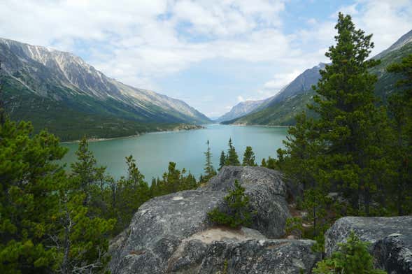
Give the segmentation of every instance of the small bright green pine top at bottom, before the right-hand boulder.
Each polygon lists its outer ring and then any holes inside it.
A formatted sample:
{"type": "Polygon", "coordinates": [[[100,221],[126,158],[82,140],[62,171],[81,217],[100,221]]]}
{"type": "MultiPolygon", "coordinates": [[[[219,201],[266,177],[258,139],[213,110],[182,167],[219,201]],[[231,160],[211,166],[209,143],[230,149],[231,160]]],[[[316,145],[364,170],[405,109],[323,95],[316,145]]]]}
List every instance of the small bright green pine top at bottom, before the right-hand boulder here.
{"type": "Polygon", "coordinates": [[[339,251],[334,252],[331,258],[318,262],[313,273],[386,273],[374,268],[374,258],[368,252],[368,243],[362,242],[353,231],[350,233],[347,243],[340,243],[339,247],[339,251]]]}

